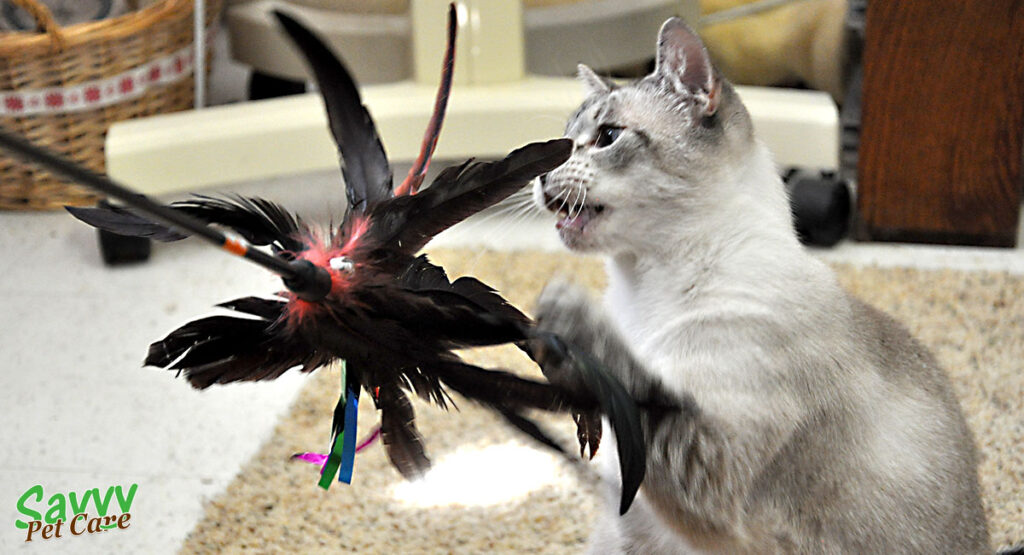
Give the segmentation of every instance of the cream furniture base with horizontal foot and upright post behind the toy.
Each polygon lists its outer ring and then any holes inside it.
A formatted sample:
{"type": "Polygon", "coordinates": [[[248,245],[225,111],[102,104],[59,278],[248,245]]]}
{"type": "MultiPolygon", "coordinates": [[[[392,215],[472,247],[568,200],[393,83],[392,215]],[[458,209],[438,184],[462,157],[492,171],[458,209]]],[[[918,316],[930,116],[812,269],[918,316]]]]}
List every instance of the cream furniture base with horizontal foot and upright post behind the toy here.
{"type": "MultiPolygon", "coordinates": [[[[580,5],[591,3],[610,4],[600,0],[580,5]]],[[[411,2],[409,71],[415,79],[362,87],[364,101],[391,160],[412,160],[419,151],[440,70],[446,4],[443,0],[411,2]]],[[[526,14],[521,4],[464,0],[458,5],[456,85],[435,157],[499,157],[525,142],[560,136],[583,90],[572,78],[526,74],[526,14]]],[[[561,6],[543,9],[556,8],[561,6]]],[[[303,22],[315,28],[314,22],[305,17],[303,22]]],[[[400,27],[391,19],[380,25],[400,27]]],[[[653,51],[654,33],[643,37],[647,52],[653,51]]],[[[371,45],[367,47],[372,48],[374,42],[367,40],[371,45]]],[[[358,56],[347,50],[342,53],[355,67],[358,56]]],[[[827,94],[767,88],[740,88],[740,94],[780,165],[837,167],[839,119],[827,94]]],[[[113,177],[151,194],[338,165],[318,93],[118,124],[108,135],[106,157],[113,177]]]]}

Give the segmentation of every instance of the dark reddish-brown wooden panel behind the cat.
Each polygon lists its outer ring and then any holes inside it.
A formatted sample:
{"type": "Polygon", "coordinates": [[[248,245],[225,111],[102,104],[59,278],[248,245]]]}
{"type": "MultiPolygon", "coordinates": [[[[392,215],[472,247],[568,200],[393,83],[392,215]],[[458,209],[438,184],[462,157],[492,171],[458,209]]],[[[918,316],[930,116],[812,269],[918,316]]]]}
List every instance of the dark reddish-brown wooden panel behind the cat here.
{"type": "Polygon", "coordinates": [[[1024,158],[1024,0],[872,0],[859,239],[1013,246],[1024,158]]]}

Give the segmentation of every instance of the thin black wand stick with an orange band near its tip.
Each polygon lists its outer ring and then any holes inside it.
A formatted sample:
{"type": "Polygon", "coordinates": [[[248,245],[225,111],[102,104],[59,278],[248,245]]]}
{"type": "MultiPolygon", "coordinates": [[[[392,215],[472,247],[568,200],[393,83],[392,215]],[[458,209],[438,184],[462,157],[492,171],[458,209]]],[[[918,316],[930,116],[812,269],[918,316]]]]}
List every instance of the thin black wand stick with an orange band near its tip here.
{"type": "Polygon", "coordinates": [[[215,229],[188,214],[162,205],[141,193],[118,184],[113,179],[84,168],[66,157],[32,144],[2,127],[0,127],[0,146],[26,162],[72,179],[96,193],[117,199],[126,206],[168,227],[199,236],[224,251],[253,261],[281,275],[285,287],[303,300],[318,301],[331,291],[331,274],[327,269],[318,267],[308,260],[287,261],[267,254],[254,248],[237,233],[215,229]]]}

